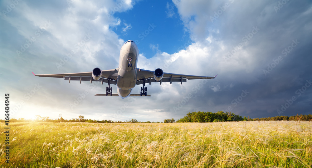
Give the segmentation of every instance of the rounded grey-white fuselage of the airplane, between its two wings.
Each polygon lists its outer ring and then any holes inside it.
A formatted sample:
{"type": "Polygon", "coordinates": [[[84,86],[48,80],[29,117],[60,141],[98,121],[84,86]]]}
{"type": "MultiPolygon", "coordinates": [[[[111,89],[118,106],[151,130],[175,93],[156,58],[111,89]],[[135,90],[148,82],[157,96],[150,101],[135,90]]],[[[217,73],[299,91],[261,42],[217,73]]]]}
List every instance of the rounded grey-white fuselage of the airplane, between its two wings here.
{"type": "Polygon", "coordinates": [[[131,94],[137,81],[138,46],[128,40],[120,49],[117,93],[124,99],[131,94]],[[130,64],[130,65],[129,65],[130,64]]]}

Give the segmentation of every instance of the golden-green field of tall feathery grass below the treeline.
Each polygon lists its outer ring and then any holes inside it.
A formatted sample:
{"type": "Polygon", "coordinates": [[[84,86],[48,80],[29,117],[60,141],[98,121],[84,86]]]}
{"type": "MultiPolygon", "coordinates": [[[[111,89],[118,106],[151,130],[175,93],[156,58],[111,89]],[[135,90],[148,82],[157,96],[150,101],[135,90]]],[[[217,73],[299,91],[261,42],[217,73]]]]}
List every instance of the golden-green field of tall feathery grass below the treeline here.
{"type": "Polygon", "coordinates": [[[312,122],[10,123],[2,167],[312,167],[312,122]],[[222,124],[222,125],[221,125],[222,124]]]}

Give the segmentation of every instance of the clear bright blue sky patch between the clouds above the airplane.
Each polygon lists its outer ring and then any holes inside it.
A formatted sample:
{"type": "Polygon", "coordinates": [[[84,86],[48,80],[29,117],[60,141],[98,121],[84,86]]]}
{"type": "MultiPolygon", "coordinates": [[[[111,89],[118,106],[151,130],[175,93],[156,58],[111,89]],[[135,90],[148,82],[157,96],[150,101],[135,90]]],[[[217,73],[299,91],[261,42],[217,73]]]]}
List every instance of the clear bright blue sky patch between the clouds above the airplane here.
{"type": "Polygon", "coordinates": [[[185,49],[184,44],[190,40],[183,21],[176,13],[173,2],[139,1],[132,10],[115,13],[114,16],[121,21],[115,32],[123,39],[136,41],[140,53],[144,53],[146,58],[160,51],[173,54],[181,46],[185,49]],[[124,32],[127,26],[131,28],[124,32]]]}

